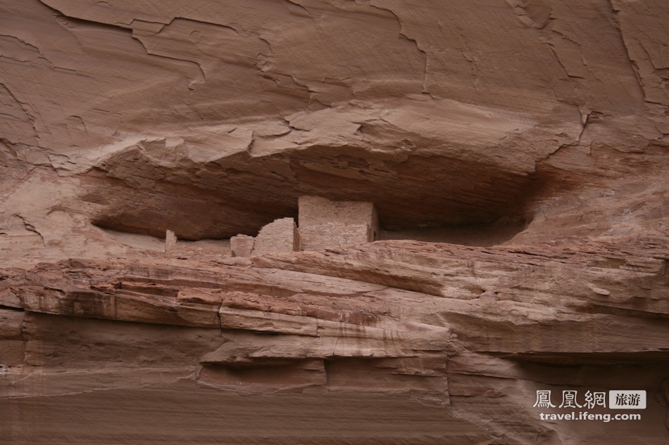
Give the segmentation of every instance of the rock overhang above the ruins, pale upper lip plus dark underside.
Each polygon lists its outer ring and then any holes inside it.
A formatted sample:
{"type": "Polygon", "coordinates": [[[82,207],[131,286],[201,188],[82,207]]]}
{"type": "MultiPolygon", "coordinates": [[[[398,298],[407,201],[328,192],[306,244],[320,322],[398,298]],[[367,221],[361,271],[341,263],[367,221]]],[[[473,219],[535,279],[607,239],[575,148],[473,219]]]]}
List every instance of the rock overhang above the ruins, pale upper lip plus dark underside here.
{"type": "Polygon", "coordinates": [[[176,221],[192,240],[254,235],[295,217],[301,195],[373,202],[389,230],[522,221],[543,183],[536,162],[580,128],[431,100],[385,105],[139,141],[92,160],[83,199],[113,189],[125,199],[94,206],[95,224],[161,236],[176,221]]]}

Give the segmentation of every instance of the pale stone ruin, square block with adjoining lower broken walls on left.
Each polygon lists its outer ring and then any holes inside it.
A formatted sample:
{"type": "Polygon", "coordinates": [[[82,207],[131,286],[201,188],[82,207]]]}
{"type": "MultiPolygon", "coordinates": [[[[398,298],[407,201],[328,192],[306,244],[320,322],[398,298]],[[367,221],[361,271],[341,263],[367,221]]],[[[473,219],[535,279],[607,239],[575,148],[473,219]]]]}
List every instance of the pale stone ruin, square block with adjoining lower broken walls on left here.
{"type": "Polygon", "coordinates": [[[251,254],[324,250],[370,243],[377,238],[379,221],[372,202],[331,201],[317,196],[299,198],[299,228],[294,219],[267,224],[256,238],[230,238],[234,257],[251,254]]]}

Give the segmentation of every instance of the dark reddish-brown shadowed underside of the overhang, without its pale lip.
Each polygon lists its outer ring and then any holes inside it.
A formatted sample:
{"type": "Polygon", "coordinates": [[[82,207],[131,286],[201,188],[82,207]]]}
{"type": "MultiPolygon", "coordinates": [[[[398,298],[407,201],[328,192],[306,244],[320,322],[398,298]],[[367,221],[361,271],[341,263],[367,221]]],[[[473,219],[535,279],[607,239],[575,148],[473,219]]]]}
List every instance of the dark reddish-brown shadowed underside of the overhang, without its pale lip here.
{"type": "Polygon", "coordinates": [[[96,225],[156,234],[171,221],[180,238],[199,239],[253,233],[268,220],[294,216],[305,194],[374,202],[388,229],[489,224],[522,215],[528,191],[538,183],[531,174],[449,157],[410,155],[397,162],[355,148],[346,150],[349,155],[324,151],[270,159],[242,155],[191,174],[149,164],[135,169],[137,162],[120,155],[115,162],[130,167],[90,173],[83,199],[104,190],[123,197],[102,205],[96,225]]]}

